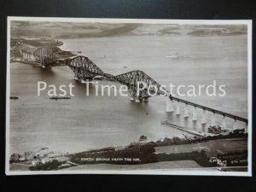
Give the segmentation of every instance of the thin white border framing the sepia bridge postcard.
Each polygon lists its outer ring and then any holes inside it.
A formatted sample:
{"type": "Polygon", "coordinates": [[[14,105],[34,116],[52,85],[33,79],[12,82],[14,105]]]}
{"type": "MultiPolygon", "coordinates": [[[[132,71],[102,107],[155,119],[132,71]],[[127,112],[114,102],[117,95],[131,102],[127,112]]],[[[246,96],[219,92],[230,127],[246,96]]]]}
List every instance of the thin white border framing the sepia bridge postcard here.
{"type": "MultiPolygon", "coordinates": [[[[252,20],[151,20],[151,19],[95,19],[95,18],[58,18],[58,17],[21,17],[8,16],[7,28],[7,77],[6,77],[6,175],[49,175],[49,174],[123,174],[123,175],[190,175],[190,176],[241,176],[252,177],[252,20]],[[59,22],[87,22],[87,23],[144,23],[144,24],[181,24],[181,25],[247,25],[247,110],[248,110],[248,170],[247,172],[211,172],[196,169],[184,170],[60,170],[60,171],[9,171],[9,125],[10,125],[10,21],[59,21],[59,22]],[[196,170],[196,171],[195,171],[196,170]]],[[[202,168],[201,170],[204,170],[202,168]]]]}

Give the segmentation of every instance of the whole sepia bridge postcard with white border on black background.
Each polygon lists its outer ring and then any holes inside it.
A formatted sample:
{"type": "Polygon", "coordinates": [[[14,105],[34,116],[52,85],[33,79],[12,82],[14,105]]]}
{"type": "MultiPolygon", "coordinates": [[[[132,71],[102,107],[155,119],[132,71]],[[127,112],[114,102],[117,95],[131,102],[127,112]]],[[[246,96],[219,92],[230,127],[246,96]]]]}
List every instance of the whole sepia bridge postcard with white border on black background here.
{"type": "Polygon", "coordinates": [[[7,174],[251,175],[249,20],[8,24],[7,174]]]}

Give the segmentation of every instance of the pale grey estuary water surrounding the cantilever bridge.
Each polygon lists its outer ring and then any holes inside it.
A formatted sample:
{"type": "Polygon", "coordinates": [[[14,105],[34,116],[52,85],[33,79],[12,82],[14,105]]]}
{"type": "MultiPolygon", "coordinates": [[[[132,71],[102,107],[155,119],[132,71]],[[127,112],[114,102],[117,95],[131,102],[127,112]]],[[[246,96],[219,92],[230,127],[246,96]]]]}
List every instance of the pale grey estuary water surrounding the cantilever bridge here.
{"type": "MultiPolygon", "coordinates": [[[[247,118],[247,36],[123,36],[108,38],[60,39],[61,49],[81,51],[105,73],[117,75],[132,70],[148,73],[160,84],[224,84],[226,96],[181,96],[182,99],[216,108],[247,118]],[[178,53],[180,58],[170,55],[178,53]],[[169,57],[168,57],[169,56],[169,57]]],[[[196,131],[207,125],[192,121],[181,114],[166,113],[166,98],[154,96],[145,102],[131,102],[130,96],[95,96],[96,84],[89,85],[73,79],[73,72],[65,66],[51,69],[32,67],[19,62],[10,63],[10,153],[49,147],[69,153],[92,148],[125,146],[137,142],[140,136],[148,141],[165,137],[189,135],[173,124],[196,131]],[[58,88],[61,84],[74,85],[71,99],[50,100],[47,90],[38,96],[38,81],[58,88]]],[[[119,83],[98,81],[102,84],[119,83]]],[[[48,89],[49,90],[49,89],[48,89]]],[[[67,89],[66,89],[67,90],[67,89]]],[[[101,91],[101,90],[100,90],[101,91]]],[[[105,90],[106,91],[106,90],[105,90]]],[[[198,93],[198,92],[197,92],[198,93]]],[[[68,96],[68,95],[67,95],[68,96]]],[[[221,117],[216,117],[220,123],[221,117]]],[[[233,121],[227,120],[232,126],[233,121]]],[[[244,127],[245,125],[239,124],[244,127]]]]}

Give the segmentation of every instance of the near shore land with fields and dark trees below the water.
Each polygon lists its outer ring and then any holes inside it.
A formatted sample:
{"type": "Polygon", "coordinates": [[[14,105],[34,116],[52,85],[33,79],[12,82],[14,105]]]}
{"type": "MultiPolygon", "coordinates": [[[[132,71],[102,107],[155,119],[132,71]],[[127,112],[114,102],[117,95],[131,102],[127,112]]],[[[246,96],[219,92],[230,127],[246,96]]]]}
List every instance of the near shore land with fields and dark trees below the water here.
{"type": "MultiPolygon", "coordinates": [[[[226,149],[220,153],[222,150],[221,143],[224,143],[224,146],[232,145],[237,143],[239,140],[241,144],[238,143],[238,147],[236,147],[236,156],[245,156],[247,155],[246,147],[247,147],[247,134],[239,134],[239,135],[229,135],[229,136],[215,136],[215,137],[194,137],[193,139],[181,139],[178,137],[173,137],[172,139],[166,138],[163,141],[159,141],[157,143],[148,142],[148,143],[131,143],[129,146],[125,148],[102,148],[90,151],[84,151],[76,154],[67,154],[64,156],[60,156],[59,159],[54,158],[54,160],[45,161],[44,163],[40,163],[34,166],[29,166],[29,170],[31,171],[49,171],[49,170],[61,170],[61,169],[70,169],[76,170],[78,167],[98,167],[112,169],[114,167],[124,166],[124,169],[129,169],[129,167],[138,166],[141,169],[145,169],[145,167],[164,167],[164,162],[168,162],[167,164],[172,165],[172,167],[178,168],[178,166],[183,167],[183,161],[188,163],[188,167],[184,168],[193,168],[195,165],[200,167],[231,167],[231,166],[242,166],[247,167],[247,161],[241,162],[236,160],[236,163],[230,163],[227,165],[225,159],[222,160],[225,156],[234,155],[232,151],[233,148],[225,147],[226,149]],[[218,143],[216,145],[217,148],[207,148],[208,142],[218,143]],[[230,143],[230,144],[229,144],[230,143]],[[196,145],[195,145],[196,144],[196,145]],[[165,148],[184,148],[186,150],[173,149],[167,153],[165,148]],[[190,147],[191,146],[191,147],[190,147]],[[193,147],[194,146],[194,147],[193,147]],[[205,146],[205,147],[204,147],[205,146]],[[240,147],[239,147],[240,146],[240,147]],[[196,148],[195,148],[196,147],[196,148]],[[163,148],[163,149],[161,149],[163,148]],[[213,150],[213,151],[212,151],[213,150]],[[219,153],[223,156],[219,156],[219,153]],[[64,160],[61,160],[65,157],[64,160]],[[213,159],[219,159],[222,161],[211,161],[213,159]],[[177,163],[175,163],[177,162],[177,163]],[[221,164],[222,163],[222,164],[221,164]],[[102,164],[107,164],[109,166],[101,166],[102,164]],[[83,166],[84,165],[84,166],[83,166]],[[114,166],[115,165],[115,166],[114,166]],[[144,166],[143,166],[144,165],[144,166]],[[158,166],[160,165],[160,166],[158,166]],[[177,165],[177,166],[175,166],[177,165]],[[191,166],[191,167],[189,167],[191,166]],[[112,167],[112,168],[111,168],[112,167]]],[[[212,144],[210,144],[211,146],[212,144]]],[[[232,145],[233,146],[233,145],[232,145]]],[[[214,160],[215,160],[214,159],[214,160]]],[[[237,159],[237,157],[235,158],[237,159]]],[[[44,160],[44,158],[42,158],[44,160]]],[[[231,160],[232,161],[232,160],[231,160]]],[[[230,161],[230,162],[231,162],[230,161]]],[[[43,161],[42,161],[43,162],[43,161]]],[[[15,163],[17,165],[17,163],[15,163]]],[[[14,165],[15,165],[14,164],[14,165]]],[[[22,163],[21,163],[22,170],[22,163]]],[[[18,166],[18,169],[19,167],[18,166]]],[[[195,167],[197,167],[195,166],[195,167]]],[[[27,166],[26,166],[27,168],[27,166]]],[[[14,166],[12,169],[15,170],[14,166]]],[[[140,169],[140,168],[138,168],[140,169]]]]}

